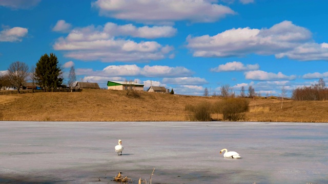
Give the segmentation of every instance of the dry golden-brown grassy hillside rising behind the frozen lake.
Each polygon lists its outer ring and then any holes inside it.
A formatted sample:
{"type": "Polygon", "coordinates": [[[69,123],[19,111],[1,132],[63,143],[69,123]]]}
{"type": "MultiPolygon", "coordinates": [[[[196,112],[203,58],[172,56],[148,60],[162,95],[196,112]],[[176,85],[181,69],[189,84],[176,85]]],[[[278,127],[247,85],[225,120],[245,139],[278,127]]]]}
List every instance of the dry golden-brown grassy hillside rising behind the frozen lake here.
{"type": "MultiPolygon", "coordinates": [[[[0,96],[3,121],[188,121],[186,104],[219,97],[177,96],[145,91],[83,90],[0,96]]],[[[247,121],[328,122],[328,102],[250,100],[247,121]]],[[[212,114],[221,119],[221,114],[212,114]]]]}

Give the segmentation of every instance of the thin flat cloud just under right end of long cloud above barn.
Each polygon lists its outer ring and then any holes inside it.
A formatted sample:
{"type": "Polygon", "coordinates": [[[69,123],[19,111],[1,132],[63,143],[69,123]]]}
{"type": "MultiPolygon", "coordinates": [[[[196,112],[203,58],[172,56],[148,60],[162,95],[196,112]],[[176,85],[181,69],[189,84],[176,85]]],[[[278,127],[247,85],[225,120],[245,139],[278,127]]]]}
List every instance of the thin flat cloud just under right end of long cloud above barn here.
{"type": "Polygon", "coordinates": [[[207,84],[208,81],[199,77],[177,77],[177,78],[163,78],[163,83],[179,84],[179,85],[202,85],[207,84]]]}

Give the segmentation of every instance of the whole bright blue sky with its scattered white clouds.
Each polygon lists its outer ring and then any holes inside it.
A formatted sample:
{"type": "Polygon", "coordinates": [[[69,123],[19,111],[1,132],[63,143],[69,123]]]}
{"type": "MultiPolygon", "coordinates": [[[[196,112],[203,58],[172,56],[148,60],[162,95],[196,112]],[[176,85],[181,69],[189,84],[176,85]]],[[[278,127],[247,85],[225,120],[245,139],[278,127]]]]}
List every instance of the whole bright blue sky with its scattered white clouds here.
{"type": "Polygon", "coordinates": [[[328,1],[0,0],[0,72],[54,53],[64,79],[261,96],[328,82],[328,1]]]}

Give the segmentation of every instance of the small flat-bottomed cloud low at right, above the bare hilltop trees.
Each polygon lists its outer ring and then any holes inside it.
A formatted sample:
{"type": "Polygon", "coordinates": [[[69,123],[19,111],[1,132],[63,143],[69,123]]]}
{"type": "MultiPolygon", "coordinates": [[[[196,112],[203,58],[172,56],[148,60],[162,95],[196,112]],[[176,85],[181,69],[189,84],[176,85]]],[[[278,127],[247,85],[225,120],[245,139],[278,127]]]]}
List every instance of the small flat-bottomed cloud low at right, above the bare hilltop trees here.
{"type": "Polygon", "coordinates": [[[294,80],[296,79],[295,75],[286,76],[282,74],[281,72],[278,72],[278,74],[271,73],[271,72],[264,72],[264,71],[250,71],[244,73],[245,78],[249,80],[294,80]]]}

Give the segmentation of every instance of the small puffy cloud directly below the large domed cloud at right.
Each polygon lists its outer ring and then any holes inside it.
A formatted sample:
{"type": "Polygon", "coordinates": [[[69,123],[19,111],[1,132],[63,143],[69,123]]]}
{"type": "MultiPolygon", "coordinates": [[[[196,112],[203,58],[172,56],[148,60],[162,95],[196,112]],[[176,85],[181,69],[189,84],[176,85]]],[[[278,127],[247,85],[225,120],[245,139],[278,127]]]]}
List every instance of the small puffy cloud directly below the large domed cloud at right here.
{"type": "Polygon", "coordinates": [[[211,68],[212,72],[232,72],[232,71],[251,71],[258,70],[260,66],[258,64],[247,64],[246,66],[238,61],[227,62],[226,64],[220,64],[218,67],[211,68]]]}

